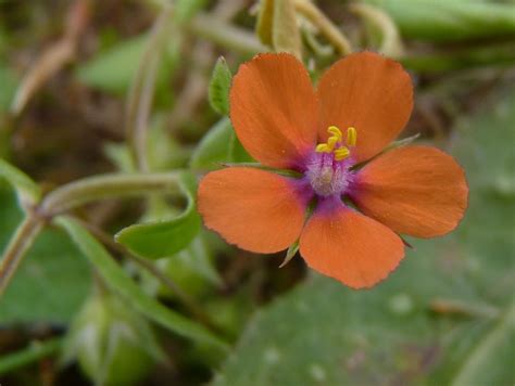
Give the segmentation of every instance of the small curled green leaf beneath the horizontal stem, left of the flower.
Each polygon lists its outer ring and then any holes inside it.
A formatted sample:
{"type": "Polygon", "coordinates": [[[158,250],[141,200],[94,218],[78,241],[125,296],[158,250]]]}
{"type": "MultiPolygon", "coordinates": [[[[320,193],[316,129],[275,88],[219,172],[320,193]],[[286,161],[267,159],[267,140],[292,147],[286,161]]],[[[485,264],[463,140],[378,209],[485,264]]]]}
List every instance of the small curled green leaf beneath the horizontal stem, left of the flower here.
{"type": "Polygon", "coordinates": [[[187,206],[179,216],[167,221],[127,227],[115,235],[116,241],[133,253],[150,259],[173,256],[188,246],[199,233],[201,224],[194,202],[197,192],[194,176],[184,172],[180,176],[180,188],[186,196],[187,206]]]}

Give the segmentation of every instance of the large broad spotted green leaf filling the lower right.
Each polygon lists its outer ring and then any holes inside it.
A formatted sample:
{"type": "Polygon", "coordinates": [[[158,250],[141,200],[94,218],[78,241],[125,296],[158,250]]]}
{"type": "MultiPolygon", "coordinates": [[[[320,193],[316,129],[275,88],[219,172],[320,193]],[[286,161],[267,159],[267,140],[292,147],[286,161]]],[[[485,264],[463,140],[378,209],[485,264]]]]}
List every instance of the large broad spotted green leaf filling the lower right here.
{"type": "Polygon", "coordinates": [[[368,291],[312,274],[256,313],[215,385],[513,382],[515,92],[483,102],[453,138],[470,186],[460,228],[411,241],[415,250],[368,291]]]}

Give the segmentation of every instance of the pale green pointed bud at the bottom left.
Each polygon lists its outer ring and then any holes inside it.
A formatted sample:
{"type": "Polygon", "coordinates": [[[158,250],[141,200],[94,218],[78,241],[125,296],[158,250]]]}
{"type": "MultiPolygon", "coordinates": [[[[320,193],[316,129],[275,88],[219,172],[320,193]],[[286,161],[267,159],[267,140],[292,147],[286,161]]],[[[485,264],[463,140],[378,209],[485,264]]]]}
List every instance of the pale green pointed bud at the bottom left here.
{"type": "Polygon", "coordinates": [[[73,320],[65,360],[77,357],[83,371],[98,385],[128,385],[164,361],[150,324],[117,297],[97,291],[73,320]]]}

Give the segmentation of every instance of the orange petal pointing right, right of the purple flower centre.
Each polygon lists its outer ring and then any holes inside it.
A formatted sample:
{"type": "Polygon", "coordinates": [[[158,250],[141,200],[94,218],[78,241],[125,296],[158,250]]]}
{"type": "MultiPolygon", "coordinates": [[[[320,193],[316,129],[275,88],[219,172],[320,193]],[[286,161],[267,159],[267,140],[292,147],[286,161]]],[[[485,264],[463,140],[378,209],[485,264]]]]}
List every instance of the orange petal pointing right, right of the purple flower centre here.
{"type": "Polygon", "coordinates": [[[392,150],[359,171],[351,197],[392,230],[434,237],[456,228],[467,207],[465,173],[435,147],[392,150]]]}

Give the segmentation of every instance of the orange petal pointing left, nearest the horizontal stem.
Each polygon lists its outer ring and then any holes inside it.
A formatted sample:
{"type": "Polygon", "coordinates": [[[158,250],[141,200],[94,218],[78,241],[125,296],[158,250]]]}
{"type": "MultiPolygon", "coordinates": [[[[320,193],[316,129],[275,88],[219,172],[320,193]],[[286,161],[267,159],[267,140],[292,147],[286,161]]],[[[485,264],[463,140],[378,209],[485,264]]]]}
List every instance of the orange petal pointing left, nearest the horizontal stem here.
{"type": "Polygon", "coordinates": [[[293,180],[239,167],[208,173],[200,182],[198,202],[205,227],[255,253],[291,245],[302,230],[306,208],[293,180]]]}

